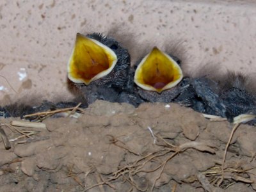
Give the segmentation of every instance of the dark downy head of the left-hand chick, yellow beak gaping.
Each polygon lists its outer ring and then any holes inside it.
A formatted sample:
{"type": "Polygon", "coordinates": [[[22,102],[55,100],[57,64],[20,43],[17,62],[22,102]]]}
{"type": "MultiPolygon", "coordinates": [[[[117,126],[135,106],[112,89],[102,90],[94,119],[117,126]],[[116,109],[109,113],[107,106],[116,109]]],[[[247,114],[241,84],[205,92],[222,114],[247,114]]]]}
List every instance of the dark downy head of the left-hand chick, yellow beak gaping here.
{"type": "Polygon", "coordinates": [[[100,33],[81,35],[68,60],[68,79],[74,83],[124,86],[129,72],[128,51],[115,39],[100,33]]]}

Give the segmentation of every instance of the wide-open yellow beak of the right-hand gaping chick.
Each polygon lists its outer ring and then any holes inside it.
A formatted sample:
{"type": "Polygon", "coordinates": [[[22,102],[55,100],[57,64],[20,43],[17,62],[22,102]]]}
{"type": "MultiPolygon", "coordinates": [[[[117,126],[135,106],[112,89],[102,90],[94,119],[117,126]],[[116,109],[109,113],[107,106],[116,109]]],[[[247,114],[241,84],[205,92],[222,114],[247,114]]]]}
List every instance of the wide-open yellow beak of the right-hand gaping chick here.
{"type": "Polygon", "coordinates": [[[182,70],[178,63],[154,47],[138,65],[134,83],[143,90],[161,93],[180,83],[182,78],[182,70]]]}

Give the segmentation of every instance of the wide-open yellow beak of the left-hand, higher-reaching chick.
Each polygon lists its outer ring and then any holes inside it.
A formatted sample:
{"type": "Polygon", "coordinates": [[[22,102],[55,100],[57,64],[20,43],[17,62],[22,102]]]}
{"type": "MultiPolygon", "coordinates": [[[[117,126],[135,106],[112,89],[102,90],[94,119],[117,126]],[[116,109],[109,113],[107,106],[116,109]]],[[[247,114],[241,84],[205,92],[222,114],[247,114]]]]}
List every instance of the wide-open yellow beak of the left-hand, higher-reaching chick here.
{"type": "Polygon", "coordinates": [[[90,84],[108,75],[116,65],[116,54],[97,40],[79,33],[68,60],[68,78],[74,83],[90,84]]]}

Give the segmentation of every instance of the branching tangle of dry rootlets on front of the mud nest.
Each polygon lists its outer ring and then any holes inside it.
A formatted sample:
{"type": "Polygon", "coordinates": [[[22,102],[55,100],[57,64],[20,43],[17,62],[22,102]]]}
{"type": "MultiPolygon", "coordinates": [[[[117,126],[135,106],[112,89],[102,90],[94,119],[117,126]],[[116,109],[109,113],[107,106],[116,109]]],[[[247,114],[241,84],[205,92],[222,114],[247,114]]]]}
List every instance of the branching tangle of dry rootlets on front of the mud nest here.
{"type": "MultiPolygon", "coordinates": [[[[109,182],[117,180],[120,177],[124,179],[124,182],[125,181],[129,182],[134,188],[138,189],[138,191],[147,191],[148,186],[145,189],[141,189],[138,186],[138,184],[136,184],[136,182],[135,182],[136,179],[134,178],[134,176],[136,176],[137,173],[140,173],[140,172],[150,173],[150,172],[156,172],[157,170],[160,169],[159,174],[157,174],[157,177],[154,179],[154,183],[152,184],[152,187],[150,189],[151,191],[153,191],[153,189],[156,186],[157,180],[163,174],[166,164],[180,152],[184,152],[188,148],[194,148],[195,150],[207,151],[210,153],[215,152],[215,150],[213,150],[213,148],[212,148],[212,147],[214,147],[213,145],[207,145],[202,142],[191,141],[191,142],[179,145],[179,146],[175,146],[175,145],[172,145],[171,143],[168,143],[168,141],[164,140],[164,138],[162,138],[161,136],[154,134],[154,132],[152,130],[150,131],[150,133],[152,134],[153,138],[155,138],[158,142],[161,141],[162,144],[161,143],[155,143],[155,144],[163,147],[162,149],[151,152],[151,153],[147,154],[147,156],[140,157],[139,159],[134,161],[132,164],[128,164],[128,165],[124,166],[123,168],[120,168],[116,172],[111,173],[111,176],[109,176],[108,179],[103,180],[102,182],[99,182],[97,184],[94,184],[93,186],[90,186],[90,187],[84,189],[84,191],[88,191],[89,189],[95,188],[96,186],[102,186],[104,184],[109,185],[109,182]],[[156,159],[157,159],[157,161],[156,161],[156,159]],[[146,169],[145,168],[146,165],[153,161],[155,163],[159,163],[159,164],[157,166],[155,166],[155,168],[152,168],[151,170],[146,169]]],[[[136,156],[141,156],[138,153],[132,152],[132,150],[130,150],[129,148],[124,147],[125,144],[122,143],[122,141],[117,140],[114,136],[111,136],[111,135],[108,135],[108,136],[111,137],[110,143],[116,145],[117,147],[124,148],[131,154],[134,154],[136,156]],[[122,145],[117,144],[118,142],[122,143],[122,145]]]]}

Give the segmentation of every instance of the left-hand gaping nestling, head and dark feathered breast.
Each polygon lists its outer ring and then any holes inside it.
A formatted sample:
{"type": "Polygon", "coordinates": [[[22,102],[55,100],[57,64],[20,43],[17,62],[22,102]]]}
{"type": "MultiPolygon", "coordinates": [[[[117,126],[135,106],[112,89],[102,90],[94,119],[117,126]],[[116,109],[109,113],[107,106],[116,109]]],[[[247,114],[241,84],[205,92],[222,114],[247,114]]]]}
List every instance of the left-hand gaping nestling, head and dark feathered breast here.
{"type": "Polygon", "coordinates": [[[130,55],[114,38],[101,33],[81,35],[68,61],[68,79],[79,86],[88,104],[97,99],[138,106],[131,82],[130,55]]]}

